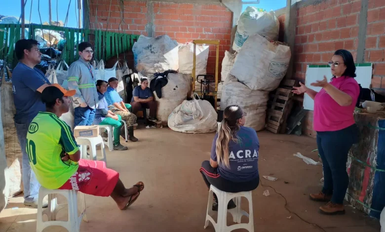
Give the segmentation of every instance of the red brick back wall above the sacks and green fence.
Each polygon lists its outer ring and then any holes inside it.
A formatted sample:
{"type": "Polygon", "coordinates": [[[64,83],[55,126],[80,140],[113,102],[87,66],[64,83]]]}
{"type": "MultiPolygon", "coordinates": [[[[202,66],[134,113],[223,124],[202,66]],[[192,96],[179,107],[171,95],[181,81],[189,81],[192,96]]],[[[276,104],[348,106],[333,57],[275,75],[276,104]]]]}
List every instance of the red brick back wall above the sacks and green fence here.
{"type": "MultiPolygon", "coordinates": [[[[146,1],[124,1],[124,22],[120,19],[120,7],[117,0],[112,0],[111,14],[108,20],[110,0],[90,1],[91,28],[107,29],[135,35],[148,36],[148,3],[146,1]],[[98,23],[96,23],[96,15],[98,23]],[[109,25],[107,27],[107,20],[109,25]],[[120,25],[119,25],[120,24],[120,25]]],[[[219,39],[219,73],[225,51],[230,49],[232,12],[220,4],[189,4],[154,2],[154,36],[168,35],[180,43],[193,39],[219,39]]],[[[215,71],[215,46],[210,46],[207,73],[215,71]]],[[[113,62],[112,62],[113,63],[113,62]]]]}

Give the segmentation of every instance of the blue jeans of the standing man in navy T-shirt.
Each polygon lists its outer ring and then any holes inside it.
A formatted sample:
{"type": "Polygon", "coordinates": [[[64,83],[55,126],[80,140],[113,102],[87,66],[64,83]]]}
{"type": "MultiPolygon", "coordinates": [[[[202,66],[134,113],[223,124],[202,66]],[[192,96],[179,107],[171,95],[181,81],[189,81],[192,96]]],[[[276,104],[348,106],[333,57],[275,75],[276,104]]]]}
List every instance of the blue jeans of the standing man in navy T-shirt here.
{"type": "Polygon", "coordinates": [[[26,124],[15,123],[17,138],[19,139],[22,157],[23,168],[23,186],[24,186],[24,201],[34,202],[38,200],[40,184],[36,179],[34,171],[31,169],[28,154],[26,152],[26,140],[28,127],[31,122],[26,124]]]}

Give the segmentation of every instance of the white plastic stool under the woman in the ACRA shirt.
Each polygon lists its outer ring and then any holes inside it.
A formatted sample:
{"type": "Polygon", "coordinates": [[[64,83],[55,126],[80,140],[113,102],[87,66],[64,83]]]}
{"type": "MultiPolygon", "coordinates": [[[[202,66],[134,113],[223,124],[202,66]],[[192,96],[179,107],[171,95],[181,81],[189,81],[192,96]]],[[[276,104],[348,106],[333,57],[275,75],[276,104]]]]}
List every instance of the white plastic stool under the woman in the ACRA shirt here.
{"type": "Polygon", "coordinates": [[[251,191],[250,192],[240,192],[240,193],[226,193],[220,191],[214,186],[210,186],[209,199],[207,204],[207,213],[206,213],[206,222],[204,225],[204,229],[207,228],[209,222],[211,222],[214,226],[216,232],[231,232],[237,229],[246,229],[249,232],[254,232],[254,223],[253,223],[253,200],[251,191]],[[212,213],[212,205],[213,205],[213,193],[215,193],[218,197],[218,219],[217,223],[215,223],[214,219],[209,215],[212,213]],[[241,197],[246,197],[249,201],[249,214],[241,209],[241,197]],[[233,199],[236,207],[233,209],[227,209],[227,205],[229,201],[233,199]],[[232,226],[227,226],[227,213],[231,213],[233,222],[238,223],[232,226]],[[249,223],[242,223],[242,216],[246,216],[249,218],[249,223]]]}

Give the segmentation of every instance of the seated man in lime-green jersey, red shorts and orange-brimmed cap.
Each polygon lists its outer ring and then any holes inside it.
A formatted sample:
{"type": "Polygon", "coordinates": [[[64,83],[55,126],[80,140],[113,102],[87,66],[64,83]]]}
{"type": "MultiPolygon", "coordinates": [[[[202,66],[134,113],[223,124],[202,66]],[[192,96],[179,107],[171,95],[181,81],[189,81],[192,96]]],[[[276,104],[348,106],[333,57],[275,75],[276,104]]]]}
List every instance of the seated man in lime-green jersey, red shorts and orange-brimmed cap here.
{"type": "Polygon", "coordinates": [[[104,161],[82,159],[71,128],[59,117],[69,111],[76,90],[67,91],[59,84],[41,93],[46,111],[39,112],[27,134],[27,154],[41,186],[46,189],[77,190],[94,196],[111,196],[117,207],[126,209],[144,189],[138,182],[126,189],[119,173],[104,161]]]}

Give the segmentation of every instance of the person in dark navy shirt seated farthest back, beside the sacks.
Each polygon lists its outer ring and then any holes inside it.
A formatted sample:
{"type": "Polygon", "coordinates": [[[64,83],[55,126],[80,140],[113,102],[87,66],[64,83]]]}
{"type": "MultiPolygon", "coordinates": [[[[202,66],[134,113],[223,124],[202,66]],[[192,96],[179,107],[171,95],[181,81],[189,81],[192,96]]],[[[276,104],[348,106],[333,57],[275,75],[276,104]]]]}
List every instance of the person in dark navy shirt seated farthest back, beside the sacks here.
{"type": "Polygon", "coordinates": [[[136,115],[138,111],[143,109],[150,109],[149,120],[156,121],[156,102],[154,101],[153,92],[148,87],[149,80],[145,77],[140,79],[141,85],[138,85],[134,88],[132,92],[131,106],[132,113],[136,115]]]}

